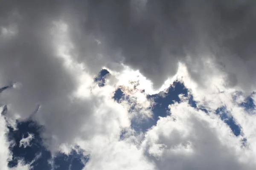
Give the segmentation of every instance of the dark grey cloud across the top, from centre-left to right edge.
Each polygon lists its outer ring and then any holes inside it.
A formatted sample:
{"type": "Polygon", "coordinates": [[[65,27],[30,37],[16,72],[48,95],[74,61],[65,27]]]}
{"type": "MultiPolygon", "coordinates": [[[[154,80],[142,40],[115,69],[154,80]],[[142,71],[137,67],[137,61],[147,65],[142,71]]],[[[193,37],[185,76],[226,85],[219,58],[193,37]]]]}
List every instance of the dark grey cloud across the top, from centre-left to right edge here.
{"type": "Polygon", "coordinates": [[[75,18],[80,18],[79,30],[84,37],[77,37],[74,31],[73,38],[87,63],[103,53],[105,59],[98,59],[98,65],[124,62],[140,69],[159,87],[176,73],[178,61],[186,63],[192,77],[202,83],[201,74],[207,69],[202,65],[213,55],[217,68],[235,75],[232,79],[227,76],[228,85],[250,84],[255,78],[253,0],[88,0],[84,6],[77,4],[80,8],[75,9],[75,18]],[[88,35],[101,40],[102,45],[97,46],[88,35]],[[123,58],[116,56],[117,51],[123,58]],[[243,79],[241,74],[250,76],[243,79]]]}

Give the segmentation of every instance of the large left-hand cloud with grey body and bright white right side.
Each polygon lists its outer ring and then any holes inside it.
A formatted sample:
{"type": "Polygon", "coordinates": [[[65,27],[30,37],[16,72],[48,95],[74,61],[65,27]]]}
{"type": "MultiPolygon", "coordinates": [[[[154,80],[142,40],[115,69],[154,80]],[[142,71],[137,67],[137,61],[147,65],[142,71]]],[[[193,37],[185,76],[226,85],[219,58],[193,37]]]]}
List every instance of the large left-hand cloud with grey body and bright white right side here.
{"type": "Polygon", "coordinates": [[[36,110],[32,119],[47,127],[42,135],[52,152],[62,143],[73,144],[76,138],[118,135],[122,126],[129,126],[127,111],[111,100],[115,88],[94,88],[95,75],[85,73],[70,57],[68,27],[61,20],[54,20],[51,8],[49,16],[44,15],[52,4],[45,2],[39,11],[31,8],[38,20],[23,4],[16,5],[17,34],[1,41],[0,82],[8,85],[17,81],[22,88],[1,93],[0,103],[7,105],[7,116],[27,119],[36,110]],[[90,98],[76,94],[83,85],[82,94],[90,98]]]}

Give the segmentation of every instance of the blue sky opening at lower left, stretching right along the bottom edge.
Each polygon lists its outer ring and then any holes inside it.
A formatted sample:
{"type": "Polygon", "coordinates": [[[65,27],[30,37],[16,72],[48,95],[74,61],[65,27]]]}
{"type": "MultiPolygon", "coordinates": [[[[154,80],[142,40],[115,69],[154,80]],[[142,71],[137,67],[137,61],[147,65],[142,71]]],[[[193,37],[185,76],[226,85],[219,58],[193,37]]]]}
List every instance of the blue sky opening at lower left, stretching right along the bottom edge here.
{"type": "MultiPolygon", "coordinates": [[[[39,126],[32,120],[24,122],[17,122],[17,130],[12,127],[9,128],[9,141],[15,142],[14,146],[9,149],[12,152],[13,159],[9,161],[9,167],[17,166],[18,160],[23,160],[25,164],[31,164],[32,170],[50,170],[51,164],[49,160],[52,159],[51,153],[43,145],[40,133],[44,127],[39,126]],[[30,146],[20,147],[20,140],[32,134],[34,138],[30,141],[30,146]],[[37,158],[37,159],[35,159],[37,158]]],[[[83,156],[81,152],[72,150],[69,155],[58,153],[54,158],[55,170],[81,170],[84,163],[89,160],[89,157],[83,156]]]]}

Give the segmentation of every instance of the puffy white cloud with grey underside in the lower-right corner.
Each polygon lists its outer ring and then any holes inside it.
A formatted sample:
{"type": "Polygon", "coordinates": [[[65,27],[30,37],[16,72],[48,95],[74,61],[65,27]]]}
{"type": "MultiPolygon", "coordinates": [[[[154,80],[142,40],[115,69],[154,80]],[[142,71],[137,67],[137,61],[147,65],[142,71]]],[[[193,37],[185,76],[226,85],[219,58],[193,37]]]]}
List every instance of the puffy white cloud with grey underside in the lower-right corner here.
{"type": "Polygon", "coordinates": [[[253,155],[247,155],[239,138],[214,114],[207,115],[186,102],[170,109],[172,115],[161,118],[142,144],[158,169],[253,169],[256,162],[248,159],[253,155]]]}

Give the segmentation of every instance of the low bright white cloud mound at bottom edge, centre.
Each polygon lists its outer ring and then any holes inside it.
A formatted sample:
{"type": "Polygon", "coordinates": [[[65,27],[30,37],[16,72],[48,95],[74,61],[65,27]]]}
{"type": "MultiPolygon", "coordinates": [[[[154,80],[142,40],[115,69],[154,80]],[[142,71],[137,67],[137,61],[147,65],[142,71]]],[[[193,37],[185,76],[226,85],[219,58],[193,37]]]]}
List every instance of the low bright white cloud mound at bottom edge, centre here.
{"type": "Polygon", "coordinates": [[[149,162],[134,144],[113,141],[94,147],[84,170],[152,170],[152,168],[154,163],[149,162]]]}

